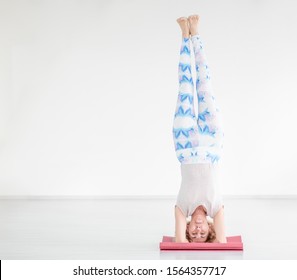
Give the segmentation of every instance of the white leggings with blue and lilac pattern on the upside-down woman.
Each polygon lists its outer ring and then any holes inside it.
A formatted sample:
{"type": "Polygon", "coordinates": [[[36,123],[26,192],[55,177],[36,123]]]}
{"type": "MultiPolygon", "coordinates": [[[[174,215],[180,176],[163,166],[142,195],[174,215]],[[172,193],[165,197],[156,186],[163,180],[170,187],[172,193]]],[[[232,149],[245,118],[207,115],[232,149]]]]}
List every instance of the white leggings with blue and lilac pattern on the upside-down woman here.
{"type": "Polygon", "coordinates": [[[176,156],[182,164],[218,162],[223,148],[224,132],[199,34],[191,39],[182,38],[178,78],[179,93],[172,130],[176,156]],[[193,45],[196,64],[198,118],[194,109],[190,42],[193,45]]]}

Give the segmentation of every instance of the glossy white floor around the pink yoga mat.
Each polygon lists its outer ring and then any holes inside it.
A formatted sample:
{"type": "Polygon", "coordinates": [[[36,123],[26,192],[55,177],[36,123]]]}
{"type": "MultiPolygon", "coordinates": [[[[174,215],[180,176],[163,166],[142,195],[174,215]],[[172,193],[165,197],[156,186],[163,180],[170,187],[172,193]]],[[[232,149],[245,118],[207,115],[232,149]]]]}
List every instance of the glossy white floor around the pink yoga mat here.
{"type": "Polygon", "coordinates": [[[160,251],[174,200],[0,200],[0,259],[297,259],[296,199],[225,199],[244,251],[160,251]]]}

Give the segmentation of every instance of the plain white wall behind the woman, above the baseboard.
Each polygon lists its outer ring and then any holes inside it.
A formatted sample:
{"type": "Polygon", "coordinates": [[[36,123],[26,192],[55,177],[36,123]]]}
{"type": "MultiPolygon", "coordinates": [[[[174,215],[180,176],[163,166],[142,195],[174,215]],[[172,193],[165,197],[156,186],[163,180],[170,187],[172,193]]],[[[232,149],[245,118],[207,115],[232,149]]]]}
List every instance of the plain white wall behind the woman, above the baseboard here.
{"type": "Polygon", "coordinates": [[[0,195],[176,195],[181,34],[200,14],[222,192],[297,194],[296,2],[0,1],[0,195]]]}

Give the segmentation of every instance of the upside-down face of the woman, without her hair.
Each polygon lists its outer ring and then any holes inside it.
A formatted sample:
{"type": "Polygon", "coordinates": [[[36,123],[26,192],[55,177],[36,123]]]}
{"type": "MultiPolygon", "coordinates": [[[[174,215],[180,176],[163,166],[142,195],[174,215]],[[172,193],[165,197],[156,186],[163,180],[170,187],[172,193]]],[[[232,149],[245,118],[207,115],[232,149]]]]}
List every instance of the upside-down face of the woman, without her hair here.
{"type": "Polygon", "coordinates": [[[209,232],[206,217],[202,215],[192,216],[188,231],[193,242],[205,242],[209,232]]]}

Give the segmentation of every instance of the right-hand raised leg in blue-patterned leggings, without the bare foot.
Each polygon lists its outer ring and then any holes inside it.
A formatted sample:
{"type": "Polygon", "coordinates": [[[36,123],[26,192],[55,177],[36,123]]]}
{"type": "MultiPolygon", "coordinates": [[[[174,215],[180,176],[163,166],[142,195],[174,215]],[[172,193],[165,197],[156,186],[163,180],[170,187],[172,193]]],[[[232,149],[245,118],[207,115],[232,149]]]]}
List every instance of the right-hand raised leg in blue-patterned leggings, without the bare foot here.
{"type": "Polygon", "coordinates": [[[206,159],[214,163],[220,159],[224,132],[219,109],[215,102],[201,36],[199,34],[192,35],[191,41],[194,49],[197,76],[199,146],[201,150],[204,150],[206,159]]]}

